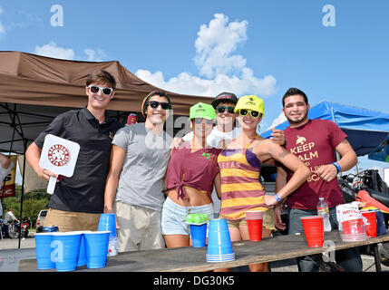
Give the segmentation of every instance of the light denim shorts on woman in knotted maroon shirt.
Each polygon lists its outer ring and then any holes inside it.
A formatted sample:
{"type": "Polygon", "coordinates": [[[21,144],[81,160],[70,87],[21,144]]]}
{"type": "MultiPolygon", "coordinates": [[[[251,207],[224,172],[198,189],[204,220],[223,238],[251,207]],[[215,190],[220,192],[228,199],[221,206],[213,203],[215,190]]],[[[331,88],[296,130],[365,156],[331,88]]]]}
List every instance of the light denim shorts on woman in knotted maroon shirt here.
{"type": "MultiPolygon", "coordinates": [[[[166,198],[162,208],[162,235],[190,235],[190,226],[185,223],[188,214],[208,214],[213,218],[213,206],[211,203],[199,207],[182,207],[166,198]]],[[[208,237],[208,227],[207,227],[208,237]]]]}

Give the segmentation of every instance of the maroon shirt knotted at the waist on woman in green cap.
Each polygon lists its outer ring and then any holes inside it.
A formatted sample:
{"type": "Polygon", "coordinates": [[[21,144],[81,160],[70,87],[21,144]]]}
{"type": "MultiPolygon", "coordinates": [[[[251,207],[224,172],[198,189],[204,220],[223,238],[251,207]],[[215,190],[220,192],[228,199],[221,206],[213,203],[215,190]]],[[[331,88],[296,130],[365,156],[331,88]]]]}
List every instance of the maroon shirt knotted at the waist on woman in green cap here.
{"type": "Polygon", "coordinates": [[[178,197],[186,198],[184,186],[206,190],[209,198],[213,190],[213,180],[219,173],[217,164],[221,149],[203,148],[190,151],[190,142],[180,144],[178,149],[171,150],[167,172],[167,189],[176,189],[178,197]]]}

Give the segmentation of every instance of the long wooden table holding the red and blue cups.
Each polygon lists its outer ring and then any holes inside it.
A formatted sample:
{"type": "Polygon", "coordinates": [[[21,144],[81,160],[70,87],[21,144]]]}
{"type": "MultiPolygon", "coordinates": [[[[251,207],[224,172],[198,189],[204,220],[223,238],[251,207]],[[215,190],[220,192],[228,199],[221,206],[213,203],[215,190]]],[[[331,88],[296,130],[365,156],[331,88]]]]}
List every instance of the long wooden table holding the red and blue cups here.
{"type": "MultiPolygon", "coordinates": [[[[206,261],[207,247],[178,247],[162,248],[139,252],[125,252],[118,256],[108,257],[107,265],[100,269],[78,267],[82,271],[110,271],[110,272],[202,272],[218,268],[246,266],[253,263],[272,262],[297,256],[306,256],[325,253],[330,250],[339,250],[349,247],[359,247],[389,241],[389,233],[384,236],[372,237],[361,242],[342,242],[339,232],[333,230],[325,233],[325,246],[310,248],[306,246],[304,235],[277,236],[265,238],[260,242],[239,241],[232,243],[235,261],[223,263],[209,263],[206,261]]],[[[375,256],[377,257],[377,256],[375,256]]],[[[376,270],[380,271],[379,259],[375,263],[376,270]]],[[[19,271],[40,271],[36,268],[36,260],[23,260],[19,264],[19,271]]],[[[48,270],[48,271],[55,271],[48,270]]]]}

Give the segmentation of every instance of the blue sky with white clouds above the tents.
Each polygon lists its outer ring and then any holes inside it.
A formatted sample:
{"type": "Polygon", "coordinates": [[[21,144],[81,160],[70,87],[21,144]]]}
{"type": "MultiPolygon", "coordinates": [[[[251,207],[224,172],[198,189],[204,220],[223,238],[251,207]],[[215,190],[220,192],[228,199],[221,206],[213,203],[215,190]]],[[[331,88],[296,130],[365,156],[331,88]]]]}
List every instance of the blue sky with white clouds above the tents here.
{"type": "Polygon", "coordinates": [[[388,14],[385,0],[0,1],[0,49],[117,60],[172,92],[256,94],[265,131],[292,86],[311,105],[389,111],[388,14]]]}

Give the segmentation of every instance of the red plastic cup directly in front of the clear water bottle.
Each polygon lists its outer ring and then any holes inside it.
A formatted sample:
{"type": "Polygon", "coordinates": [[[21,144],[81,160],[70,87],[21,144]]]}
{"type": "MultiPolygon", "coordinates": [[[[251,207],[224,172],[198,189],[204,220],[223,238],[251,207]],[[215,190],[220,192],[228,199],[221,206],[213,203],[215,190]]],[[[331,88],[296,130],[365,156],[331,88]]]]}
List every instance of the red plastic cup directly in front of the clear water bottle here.
{"type": "Polygon", "coordinates": [[[302,217],[306,243],[308,247],[323,247],[324,245],[324,222],[323,216],[302,217]]]}

